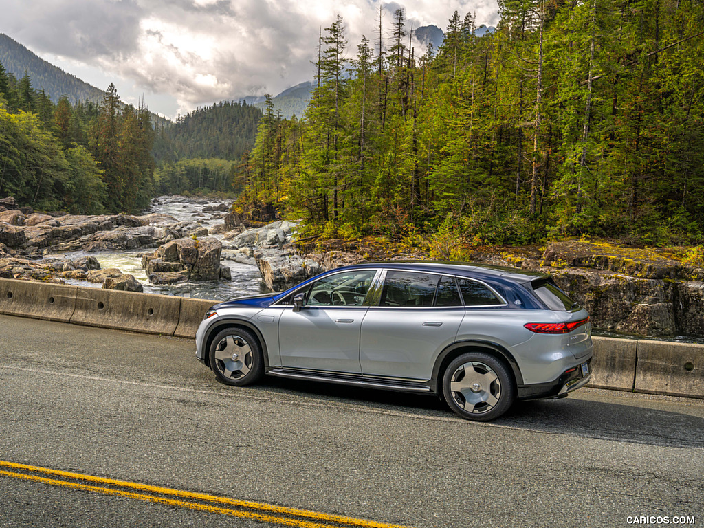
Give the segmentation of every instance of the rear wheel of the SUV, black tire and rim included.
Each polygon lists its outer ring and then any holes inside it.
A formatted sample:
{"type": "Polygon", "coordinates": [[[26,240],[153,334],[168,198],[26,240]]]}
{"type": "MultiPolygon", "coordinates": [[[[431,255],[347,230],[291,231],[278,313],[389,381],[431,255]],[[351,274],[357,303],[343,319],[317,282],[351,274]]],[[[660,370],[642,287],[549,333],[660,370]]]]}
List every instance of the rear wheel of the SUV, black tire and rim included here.
{"type": "Polygon", "coordinates": [[[445,369],[443,396],[449,408],[466,420],[487,422],[513,405],[513,375],[494,356],[465,353],[445,369]]]}

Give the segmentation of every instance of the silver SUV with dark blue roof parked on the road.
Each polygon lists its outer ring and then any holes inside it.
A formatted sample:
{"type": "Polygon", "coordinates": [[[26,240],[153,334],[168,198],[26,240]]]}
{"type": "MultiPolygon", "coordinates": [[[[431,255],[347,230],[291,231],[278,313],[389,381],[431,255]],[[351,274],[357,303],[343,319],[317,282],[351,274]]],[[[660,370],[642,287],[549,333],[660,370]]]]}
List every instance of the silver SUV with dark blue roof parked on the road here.
{"type": "Polygon", "coordinates": [[[460,263],[368,263],[213,306],[196,357],[225,384],[263,374],[436,394],[492,420],[589,381],[589,313],[549,275],[460,263]]]}

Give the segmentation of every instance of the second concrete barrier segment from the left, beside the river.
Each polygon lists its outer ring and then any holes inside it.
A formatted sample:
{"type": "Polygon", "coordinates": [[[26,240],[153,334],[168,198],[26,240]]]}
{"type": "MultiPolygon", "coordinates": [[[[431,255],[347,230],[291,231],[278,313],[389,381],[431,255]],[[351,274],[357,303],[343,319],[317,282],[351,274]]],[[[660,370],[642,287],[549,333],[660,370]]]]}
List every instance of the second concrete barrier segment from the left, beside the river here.
{"type": "Polygon", "coordinates": [[[78,287],[70,322],[77,325],[173,335],[179,321],[181,298],[78,287]]]}

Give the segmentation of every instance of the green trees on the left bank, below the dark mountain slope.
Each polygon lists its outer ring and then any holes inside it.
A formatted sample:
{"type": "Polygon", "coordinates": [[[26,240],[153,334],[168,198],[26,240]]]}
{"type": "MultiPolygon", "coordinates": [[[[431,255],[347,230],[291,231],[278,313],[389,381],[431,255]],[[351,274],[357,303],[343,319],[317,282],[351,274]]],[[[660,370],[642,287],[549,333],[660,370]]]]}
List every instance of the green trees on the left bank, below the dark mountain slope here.
{"type": "Polygon", "coordinates": [[[111,84],[97,107],[56,106],[0,69],[0,196],[38,210],[136,212],[153,196],[151,115],[111,84]],[[13,102],[11,102],[13,101],[13,102]]]}

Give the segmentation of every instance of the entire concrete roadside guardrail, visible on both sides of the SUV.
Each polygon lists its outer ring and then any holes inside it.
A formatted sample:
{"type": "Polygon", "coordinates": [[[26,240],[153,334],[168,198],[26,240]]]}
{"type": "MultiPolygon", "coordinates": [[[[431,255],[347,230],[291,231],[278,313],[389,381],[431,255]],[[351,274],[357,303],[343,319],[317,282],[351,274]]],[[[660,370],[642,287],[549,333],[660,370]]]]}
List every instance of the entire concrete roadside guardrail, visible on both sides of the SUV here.
{"type": "MultiPolygon", "coordinates": [[[[218,301],[0,279],[0,313],[193,338],[218,301]]],[[[704,345],[594,337],[588,386],[704,398],[704,345]]]]}

